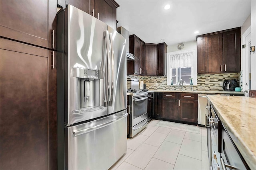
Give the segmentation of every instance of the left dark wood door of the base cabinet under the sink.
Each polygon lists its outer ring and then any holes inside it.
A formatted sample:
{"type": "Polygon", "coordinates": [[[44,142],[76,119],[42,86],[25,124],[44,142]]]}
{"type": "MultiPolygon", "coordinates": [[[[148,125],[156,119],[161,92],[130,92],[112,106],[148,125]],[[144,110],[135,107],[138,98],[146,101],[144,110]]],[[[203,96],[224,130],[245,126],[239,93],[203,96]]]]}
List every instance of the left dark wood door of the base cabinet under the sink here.
{"type": "Polygon", "coordinates": [[[178,119],[176,99],[162,99],[162,118],[172,120],[178,119]]]}

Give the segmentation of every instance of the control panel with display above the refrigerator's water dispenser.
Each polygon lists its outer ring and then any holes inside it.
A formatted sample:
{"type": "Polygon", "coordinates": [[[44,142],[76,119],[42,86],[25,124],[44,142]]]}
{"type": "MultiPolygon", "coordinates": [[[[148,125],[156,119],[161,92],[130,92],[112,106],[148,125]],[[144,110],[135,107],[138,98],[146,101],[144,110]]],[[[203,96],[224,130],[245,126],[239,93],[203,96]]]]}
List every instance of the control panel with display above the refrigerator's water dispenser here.
{"type": "Polygon", "coordinates": [[[90,68],[72,68],[72,76],[77,78],[102,79],[104,72],[90,68]]]}

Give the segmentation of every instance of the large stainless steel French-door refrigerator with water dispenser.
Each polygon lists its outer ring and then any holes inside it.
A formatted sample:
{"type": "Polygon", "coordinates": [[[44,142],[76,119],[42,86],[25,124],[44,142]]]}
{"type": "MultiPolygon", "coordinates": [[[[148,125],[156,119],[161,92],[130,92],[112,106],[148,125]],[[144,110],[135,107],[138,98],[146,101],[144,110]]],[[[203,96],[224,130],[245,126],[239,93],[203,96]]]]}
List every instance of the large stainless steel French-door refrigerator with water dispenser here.
{"type": "Polygon", "coordinates": [[[58,169],[108,169],[127,148],[126,39],[71,5],[57,23],[58,169]]]}

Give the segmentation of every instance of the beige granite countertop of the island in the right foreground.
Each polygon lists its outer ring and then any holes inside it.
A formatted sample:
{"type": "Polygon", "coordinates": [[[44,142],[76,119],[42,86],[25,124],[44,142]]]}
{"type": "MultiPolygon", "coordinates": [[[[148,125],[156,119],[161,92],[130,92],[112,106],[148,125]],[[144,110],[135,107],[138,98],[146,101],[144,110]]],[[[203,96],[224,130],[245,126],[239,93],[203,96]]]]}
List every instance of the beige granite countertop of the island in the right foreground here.
{"type": "Polygon", "coordinates": [[[248,166],[256,169],[256,99],[207,96],[248,166]]]}

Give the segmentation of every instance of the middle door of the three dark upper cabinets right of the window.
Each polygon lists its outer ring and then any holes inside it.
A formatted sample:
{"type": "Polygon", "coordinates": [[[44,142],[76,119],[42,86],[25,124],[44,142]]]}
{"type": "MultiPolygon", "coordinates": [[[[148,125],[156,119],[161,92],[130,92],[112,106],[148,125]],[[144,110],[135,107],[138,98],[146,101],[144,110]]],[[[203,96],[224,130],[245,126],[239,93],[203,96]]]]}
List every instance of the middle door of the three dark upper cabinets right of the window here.
{"type": "Polygon", "coordinates": [[[223,71],[222,33],[208,36],[208,72],[223,71]]]}

